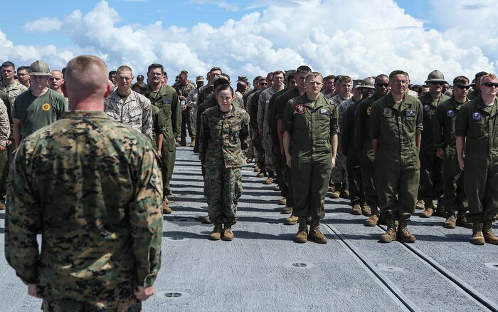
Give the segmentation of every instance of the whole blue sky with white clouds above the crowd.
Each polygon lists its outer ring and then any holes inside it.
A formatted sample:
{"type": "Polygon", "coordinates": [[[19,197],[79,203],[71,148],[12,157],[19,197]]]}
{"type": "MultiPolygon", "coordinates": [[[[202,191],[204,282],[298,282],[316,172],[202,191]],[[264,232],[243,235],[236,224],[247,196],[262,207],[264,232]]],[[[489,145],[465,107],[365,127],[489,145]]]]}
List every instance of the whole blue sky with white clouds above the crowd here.
{"type": "Polygon", "coordinates": [[[38,0],[2,8],[0,61],[16,67],[41,59],[61,69],[92,54],[134,76],[161,63],[170,82],[213,66],[235,81],[307,65],[354,79],[401,69],[419,84],[435,69],[451,84],[498,67],[491,0],[38,0]]]}

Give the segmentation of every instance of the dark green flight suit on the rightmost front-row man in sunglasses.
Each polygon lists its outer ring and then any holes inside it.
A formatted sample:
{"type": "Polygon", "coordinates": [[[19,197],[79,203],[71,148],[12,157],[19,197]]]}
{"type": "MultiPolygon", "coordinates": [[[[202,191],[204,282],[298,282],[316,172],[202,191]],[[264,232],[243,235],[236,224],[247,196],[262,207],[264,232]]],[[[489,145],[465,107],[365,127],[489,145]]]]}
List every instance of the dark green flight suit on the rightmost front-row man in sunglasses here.
{"type": "Polygon", "coordinates": [[[486,106],[482,98],[460,107],[455,130],[465,137],[465,192],[468,222],[489,222],[498,213],[498,100],[486,106]]]}

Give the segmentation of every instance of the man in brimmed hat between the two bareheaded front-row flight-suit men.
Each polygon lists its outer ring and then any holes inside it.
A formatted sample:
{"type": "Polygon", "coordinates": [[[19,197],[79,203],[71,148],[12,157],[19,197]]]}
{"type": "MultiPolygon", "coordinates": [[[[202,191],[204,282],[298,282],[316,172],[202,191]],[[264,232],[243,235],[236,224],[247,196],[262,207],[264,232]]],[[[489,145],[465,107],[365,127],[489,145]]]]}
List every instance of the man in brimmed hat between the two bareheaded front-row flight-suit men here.
{"type": "Polygon", "coordinates": [[[346,170],[348,172],[349,197],[351,200],[351,214],[363,214],[371,216],[369,206],[365,202],[363,183],[361,182],[360,155],[359,150],[353,143],[354,140],[354,116],[356,115],[359,98],[369,98],[373,95],[373,78],[368,77],[356,85],[353,96],[345,100],[339,106],[339,128],[341,129],[341,148],[346,155],[346,170]],[[361,97],[358,95],[361,93],[361,97]],[[344,112],[344,108],[346,111],[344,112]],[[342,114],[342,116],[341,116],[342,114]]]}

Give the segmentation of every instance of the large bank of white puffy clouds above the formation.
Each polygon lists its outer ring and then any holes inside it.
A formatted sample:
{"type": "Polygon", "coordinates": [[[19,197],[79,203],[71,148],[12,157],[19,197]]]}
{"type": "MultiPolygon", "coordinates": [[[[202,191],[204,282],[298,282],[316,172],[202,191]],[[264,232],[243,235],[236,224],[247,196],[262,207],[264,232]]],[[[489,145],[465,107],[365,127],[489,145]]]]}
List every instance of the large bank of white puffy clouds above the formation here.
{"type": "Polygon", "coordinates": [[[14,46],[0,32],[0,46],[7,47],[0,49],[0,57],[46,58],[62,67],[73,55],[92,53],[104,58],[110,68],[127,64],[138,73],[145,73],[150,63],[163,63],[170,76],[183,69],[191,76],[204,76],[209,68],[219,66],[232,77],[254,77],[304,63],[324,75],[353,78],[403,69],[413,83],[423,82],[433,69],[443,71],[447,80],[462,74],[472,77],[483,70],[496,72],[498,37],[492,30],[498,21],[491,11],[497,6],[449,0],[444,6],[445,1],[432,4],[433,11],[445,12],[434,18],[442,31],[426,29],[423,21],[406,14],[393,0],[253,1],[243,9],[267,5],[266,9],[248,11],[217,28],[203,23],[189,28],[165,26],[162,21],[118,26],[122,23],[119,12],[100,1],[86,14],[76,10],[62,19],[58,33],[70,36],[75,47],[14,46]]]}

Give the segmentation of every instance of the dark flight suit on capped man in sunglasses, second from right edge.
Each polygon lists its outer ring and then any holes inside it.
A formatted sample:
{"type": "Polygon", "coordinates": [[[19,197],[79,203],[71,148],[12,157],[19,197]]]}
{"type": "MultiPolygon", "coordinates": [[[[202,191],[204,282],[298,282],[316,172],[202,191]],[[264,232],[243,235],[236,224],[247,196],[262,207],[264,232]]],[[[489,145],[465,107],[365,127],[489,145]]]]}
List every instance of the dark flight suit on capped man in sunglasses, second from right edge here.
{"type": "Polygon", "coordinates": [[[455,126],[462,103],[455,98],[445,100],[436,108],[434,118],[434,145],[444,152],[443,159],[443,204],[448,214],[458,212],[465,215],[469,204],[463,185],[464,174],[458,165],[455,126]]]}

